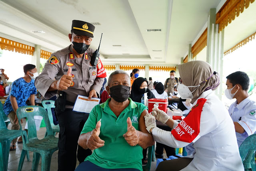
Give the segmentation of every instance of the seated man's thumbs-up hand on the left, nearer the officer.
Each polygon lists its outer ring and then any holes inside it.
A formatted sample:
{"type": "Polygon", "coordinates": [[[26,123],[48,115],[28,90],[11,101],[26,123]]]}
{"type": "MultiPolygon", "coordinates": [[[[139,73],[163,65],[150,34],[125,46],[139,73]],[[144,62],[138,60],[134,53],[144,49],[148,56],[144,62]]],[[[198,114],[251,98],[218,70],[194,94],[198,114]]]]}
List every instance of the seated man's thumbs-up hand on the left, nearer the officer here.
{"type": "Polygon", "coordinates": [[[93,129],[90,133],[89,138],[87,139],[86,142],[86,146],[91,149],[97,149],[100,147],[104,146],[105,141],[103,141],[102,139],[100,139],[99,135],[100,135],[100,126],[101,126],[101,122],[98,121],[96,124],[95,129],[93,129]]]}

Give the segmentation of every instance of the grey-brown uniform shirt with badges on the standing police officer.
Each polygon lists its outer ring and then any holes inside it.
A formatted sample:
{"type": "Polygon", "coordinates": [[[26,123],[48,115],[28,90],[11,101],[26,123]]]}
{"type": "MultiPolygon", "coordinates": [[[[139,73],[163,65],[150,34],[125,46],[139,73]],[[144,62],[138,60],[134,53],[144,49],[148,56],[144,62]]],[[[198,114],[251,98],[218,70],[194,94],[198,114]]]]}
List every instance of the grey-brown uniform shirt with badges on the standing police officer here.
{"type": "Polygon", "coordinates": [[[72,50],[72,45],[54,52],[49,60],[47,60],[42,73],[36,78],[35,85],[38,91],[46,99],[56,95],[56,91],[48,91],[50,85],[55,80],[60,80],[63,75],[66,75],[68,68],[72,68],[71,76],[72,83],[68,89],[64,90],[67,94],[67,100],[76,101],[77,95],[89,96],[92,89],[95,89],[100,94],[100,89],[104,82],[104,78],[96,78],[97,67],[90,65],[90,60],[94,51],[88,48],[84,52],[81,59],[77,58],[72,50]]]}

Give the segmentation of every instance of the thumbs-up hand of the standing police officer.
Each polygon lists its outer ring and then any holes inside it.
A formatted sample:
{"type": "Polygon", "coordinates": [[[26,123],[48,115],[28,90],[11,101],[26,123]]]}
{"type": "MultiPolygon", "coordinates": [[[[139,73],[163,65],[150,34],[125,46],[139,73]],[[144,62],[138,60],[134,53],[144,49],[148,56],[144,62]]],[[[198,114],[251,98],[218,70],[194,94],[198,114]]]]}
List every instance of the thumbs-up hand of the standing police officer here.
{"type": "Polygon", "coordinates": [[[55,89],[62,91],[64,89],[68,89],[68,87],[70,87],[70,84],[73,81],[73,78],[71,76],[71,71],[72,71],[72,69],[71,69],[71,67],[69,67],[67,75],[63,75],[60,78],[60,80],[55,82],[55,87],[54,87],[55,89]]]}

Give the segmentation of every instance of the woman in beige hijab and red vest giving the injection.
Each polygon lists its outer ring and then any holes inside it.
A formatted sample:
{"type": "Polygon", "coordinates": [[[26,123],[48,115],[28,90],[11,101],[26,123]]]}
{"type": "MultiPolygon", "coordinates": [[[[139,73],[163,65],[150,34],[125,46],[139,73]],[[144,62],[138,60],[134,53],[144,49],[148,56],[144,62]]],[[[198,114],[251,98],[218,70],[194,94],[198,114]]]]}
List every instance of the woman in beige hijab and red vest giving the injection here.
{"type": "Polygon", "coordinates": [[[153,109],[155,117],[146,115],[145,123],[156,142],[174,148],[192,143],[195,151],[187,157],[161,162],[156,171],[244,170],[234,123],[213,92],[220,84],[218,73],[203,61],[187,62],[178,68],[178,93],[182,99],[192,99],[190,112],[178,123],[164,111],[153,109]],[[156,127],[155,119],[166,123],[172,131],[156,127]]]}

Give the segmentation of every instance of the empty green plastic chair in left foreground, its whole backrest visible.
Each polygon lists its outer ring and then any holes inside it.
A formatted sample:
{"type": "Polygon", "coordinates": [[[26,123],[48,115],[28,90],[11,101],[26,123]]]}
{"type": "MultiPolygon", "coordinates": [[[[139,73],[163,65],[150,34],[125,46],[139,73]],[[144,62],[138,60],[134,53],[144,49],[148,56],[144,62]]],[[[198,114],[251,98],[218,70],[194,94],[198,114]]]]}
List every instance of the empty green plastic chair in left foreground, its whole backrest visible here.
{"type": "MultiPolygon", "coordinates": [[[[28,119],[28,139],[23,139],[23,150],[20,157],[18,171],[21,171],[25,159],[26,150],[33,151],[32,171],[37,171],[40,156],[42,157],[41,171],[50,171],[52,153],[58,150],[58,138],[54,137],[52,127],[46,110],[40,106],[24,106],[19,107],[17,116],[20,119],[26,117],[28,119]],[[40,115],[43,117],[46,124],[47,136],[44,139],[38,139],[36,134],[36,124],[34,116],[40,115]]],[[[23,134],[23,133],[22,133],[23,134]]]]}

